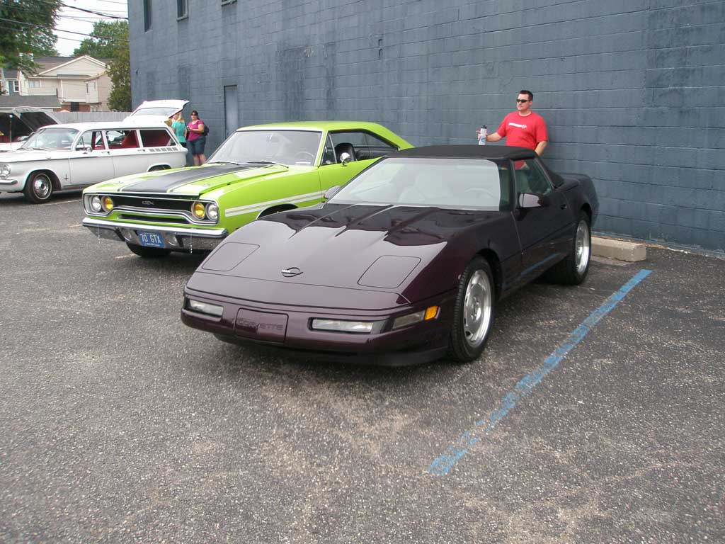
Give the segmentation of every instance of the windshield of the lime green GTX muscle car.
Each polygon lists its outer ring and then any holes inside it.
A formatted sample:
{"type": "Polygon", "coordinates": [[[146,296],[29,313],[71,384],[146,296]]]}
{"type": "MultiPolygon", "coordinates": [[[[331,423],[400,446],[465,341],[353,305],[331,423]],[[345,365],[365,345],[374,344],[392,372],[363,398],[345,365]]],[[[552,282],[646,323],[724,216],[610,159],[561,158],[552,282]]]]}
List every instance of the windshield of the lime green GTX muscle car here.
{"type": "Polygon", "coordinates": [[[321,136],[312,131],[235,132],[212,154],[209,162],[269,161],[288,166],[312,166],[321,136]]]}

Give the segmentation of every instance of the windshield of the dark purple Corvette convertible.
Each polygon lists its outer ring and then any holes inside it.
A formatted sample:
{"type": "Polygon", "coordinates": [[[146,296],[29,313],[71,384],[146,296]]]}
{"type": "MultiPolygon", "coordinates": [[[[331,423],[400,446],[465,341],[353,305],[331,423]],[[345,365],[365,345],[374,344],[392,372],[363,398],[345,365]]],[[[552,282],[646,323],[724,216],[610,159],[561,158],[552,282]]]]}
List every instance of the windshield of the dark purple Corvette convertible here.
{"type": "Polygon", "coordinates": [[[389,158],[338,191],[329,202],[508,208],[508,160],[389,158]]]}

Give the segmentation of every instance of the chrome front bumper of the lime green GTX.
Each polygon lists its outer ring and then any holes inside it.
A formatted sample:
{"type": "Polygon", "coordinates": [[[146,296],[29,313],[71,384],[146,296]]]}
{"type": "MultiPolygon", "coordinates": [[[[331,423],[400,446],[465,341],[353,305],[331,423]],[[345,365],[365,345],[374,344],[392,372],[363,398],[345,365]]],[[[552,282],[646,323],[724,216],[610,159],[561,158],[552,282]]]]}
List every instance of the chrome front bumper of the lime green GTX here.
{"type": "Polygon", "coordinates": [[[156,225],[139,225],[138,223],[120,223],[101,219],[83,218],[83,226],[98,238],[141,245],[138,232],[154,232],[163,237],[166,247],[174,251],[192,252],[194,250],[213,250],[228,236],[226,228],[185,228],[156,225]]]}

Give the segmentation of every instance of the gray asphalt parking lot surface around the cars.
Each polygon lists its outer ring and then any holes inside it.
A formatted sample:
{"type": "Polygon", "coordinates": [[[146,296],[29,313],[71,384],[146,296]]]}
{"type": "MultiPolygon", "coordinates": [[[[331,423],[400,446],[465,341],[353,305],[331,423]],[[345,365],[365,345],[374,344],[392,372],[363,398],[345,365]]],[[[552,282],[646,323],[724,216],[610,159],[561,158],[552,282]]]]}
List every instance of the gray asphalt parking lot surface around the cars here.
{"type": "Polygon", "coordinates": [[[82,217],[0,195],[1,542],[725,541],[725,260],[597,260],[476,363],[340,366],[186,328],[201,257],[82,217]]]}

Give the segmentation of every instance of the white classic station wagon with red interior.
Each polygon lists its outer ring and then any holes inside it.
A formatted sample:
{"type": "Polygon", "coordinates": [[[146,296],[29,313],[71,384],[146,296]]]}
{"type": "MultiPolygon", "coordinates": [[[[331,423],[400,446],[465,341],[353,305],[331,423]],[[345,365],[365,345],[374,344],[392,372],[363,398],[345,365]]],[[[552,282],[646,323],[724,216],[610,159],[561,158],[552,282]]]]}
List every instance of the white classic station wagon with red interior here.
{"type": "Polygon", "coordinates": [[[0,191],[22,191],[39,204],[55,191],[184,165],[186,149],[157,120],[49,125],[0,154],[0,191]]]}

